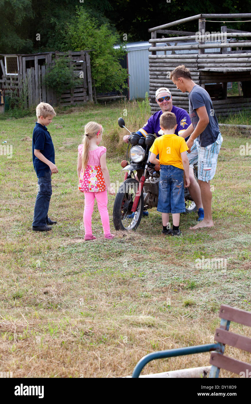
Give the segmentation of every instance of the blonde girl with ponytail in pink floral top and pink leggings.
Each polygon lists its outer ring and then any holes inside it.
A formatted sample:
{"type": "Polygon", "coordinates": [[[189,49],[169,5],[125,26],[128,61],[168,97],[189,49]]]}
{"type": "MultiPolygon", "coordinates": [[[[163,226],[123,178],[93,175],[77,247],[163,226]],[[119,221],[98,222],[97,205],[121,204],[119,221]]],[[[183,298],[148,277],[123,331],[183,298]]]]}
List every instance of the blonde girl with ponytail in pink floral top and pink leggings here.
{"type": "Polygon", "coordinates": [[[107,210],[108,196],[115,195],[110,185],[109,172],[106,166],[106,147],[99,146],[102,141],[103,127],[97,122],[88,122],[85,125],[83,143],[79,145],[77,173],[79,177],[79,190],[85,195],[84,227],[85,240],[94,240],[92,234],[91,215],[95,198],[104,229],[104,236],[108,240],[114,238],[110,232],[109,214],[107,210]]]}

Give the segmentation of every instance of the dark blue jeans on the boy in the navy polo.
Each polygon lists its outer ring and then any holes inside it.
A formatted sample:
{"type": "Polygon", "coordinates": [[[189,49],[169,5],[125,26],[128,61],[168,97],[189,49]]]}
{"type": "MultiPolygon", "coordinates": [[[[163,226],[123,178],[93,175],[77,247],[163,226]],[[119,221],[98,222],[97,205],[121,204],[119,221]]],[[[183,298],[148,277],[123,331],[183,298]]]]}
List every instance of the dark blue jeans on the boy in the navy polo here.
{"type": "Polygon", "coordinates": [[[48,210],[52,196],[51,170],[44,172],[44,177],[38,177],[38,193],[34,208],[33,226],[46,226],[48,210]]]}

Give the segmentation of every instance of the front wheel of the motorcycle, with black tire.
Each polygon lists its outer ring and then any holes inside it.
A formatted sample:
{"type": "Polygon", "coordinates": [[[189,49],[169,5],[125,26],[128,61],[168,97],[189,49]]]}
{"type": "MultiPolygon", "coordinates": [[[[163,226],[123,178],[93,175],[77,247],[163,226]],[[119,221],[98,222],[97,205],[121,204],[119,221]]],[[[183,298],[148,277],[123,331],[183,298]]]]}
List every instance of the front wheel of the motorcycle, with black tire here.
{"type": "Polygon", "coordinates": [[[139,182],[134,178],[129,178],[120,185],[113,206],[113,224],[116,230],[132,230],[139,226],[144,207],[143,192],[135,213],[131,211],[138,187],[139,182]]]}

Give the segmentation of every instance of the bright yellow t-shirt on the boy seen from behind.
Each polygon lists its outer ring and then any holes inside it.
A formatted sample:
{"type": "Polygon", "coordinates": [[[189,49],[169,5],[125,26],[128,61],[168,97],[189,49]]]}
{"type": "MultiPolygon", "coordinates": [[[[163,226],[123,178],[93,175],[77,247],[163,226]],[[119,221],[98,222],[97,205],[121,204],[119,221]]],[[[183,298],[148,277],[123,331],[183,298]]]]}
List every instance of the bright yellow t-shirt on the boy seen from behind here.
{"type": "Polygon", "coordinates": [[[177,135],[162,135],[157,137],[150,151],[160,154],[160,164],[170,165],[184,170],[180,153],[188,150],[184,137],[177,135]]]}

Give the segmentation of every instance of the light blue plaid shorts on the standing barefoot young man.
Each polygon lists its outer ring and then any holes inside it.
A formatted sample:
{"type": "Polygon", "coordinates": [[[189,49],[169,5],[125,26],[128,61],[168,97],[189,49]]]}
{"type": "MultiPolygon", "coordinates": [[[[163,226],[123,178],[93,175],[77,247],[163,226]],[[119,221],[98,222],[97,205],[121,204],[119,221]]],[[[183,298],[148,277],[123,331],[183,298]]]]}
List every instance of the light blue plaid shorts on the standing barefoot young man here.
{"type": "Polygon", "coordinates": [[[212,145],[201,147],[196,140],[198,149],[198,179],[208,182],[214,178],[218,160],[218,154],[222,144],[222,135],[219,133],[212,145]]]}

